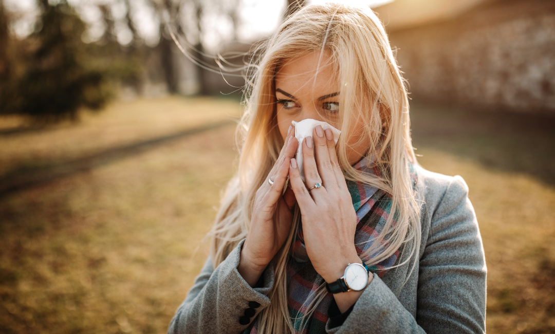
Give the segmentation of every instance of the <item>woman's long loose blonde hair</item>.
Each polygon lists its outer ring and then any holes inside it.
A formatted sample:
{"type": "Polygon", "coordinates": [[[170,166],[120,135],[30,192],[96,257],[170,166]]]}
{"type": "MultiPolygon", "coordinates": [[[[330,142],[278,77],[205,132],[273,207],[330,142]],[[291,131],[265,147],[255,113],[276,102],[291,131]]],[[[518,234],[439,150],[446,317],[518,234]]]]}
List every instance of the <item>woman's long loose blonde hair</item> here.
{"type": "MultiPolygon", "coordinates": [[[[266,181],[284,144],[276,123],[276,70],[287,60],[324,50],[336,65],[341,83],[342,133],[336,148],[345,178],[374,185],[392,195],[392,212],[386,225],[365,252],[379,252],[368,265],[387,259],[401,246],[403,252],[411,252],[405,262],[397,264],[403,265],[420,247],[419,209],[408,169],[408,161],[416,164],[416,158],[407,90],[385,29],[370,8],[312,5],[287,18],[265,42],[264,52],[257,59],[253,57],[253,82],[247,86],[244,114],[236,133],[239,169],[225,189],[211,230],[214,267],[248,234],[256,190],[266,181]],[[362,133],[355,133],[355,123],[364,125],[362,133]],[[362,174],[349,164],[347,143],[353,136],[370,143],[367,156],[374,157],[381,176],[362,174]]],[[[268,296],[271,305],[258,315],[259,333],[295,332],[287,310],[286,266],[299,216],[297,209],[289,237],[273,259],[275,281],[268,296]]],[[[301,325],[325,295],[322,285],[309,297],[301,325]]]]}

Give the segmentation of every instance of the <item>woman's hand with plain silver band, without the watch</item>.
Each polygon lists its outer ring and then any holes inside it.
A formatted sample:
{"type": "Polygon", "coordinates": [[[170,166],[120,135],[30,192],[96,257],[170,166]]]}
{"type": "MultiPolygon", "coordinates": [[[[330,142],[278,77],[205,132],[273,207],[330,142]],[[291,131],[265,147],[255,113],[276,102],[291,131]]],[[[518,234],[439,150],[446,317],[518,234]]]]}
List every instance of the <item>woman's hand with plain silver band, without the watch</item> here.
{"type": "Polygon", "coordinates": [[[291,229],[295,194],[289,188],[283,195],[282,191],[289,173],[290,159],[295,156],[297,146],[295,129],[290,126],[274,168],[256,191],[249,234],[243,244],[238,267],[239,274],[251,286],[256,284],[291,229]],[[274,181],[274,184],[270,186],[268,179],[274,181]],[[274,221],[276,210],[278,219],[274,221]]]}

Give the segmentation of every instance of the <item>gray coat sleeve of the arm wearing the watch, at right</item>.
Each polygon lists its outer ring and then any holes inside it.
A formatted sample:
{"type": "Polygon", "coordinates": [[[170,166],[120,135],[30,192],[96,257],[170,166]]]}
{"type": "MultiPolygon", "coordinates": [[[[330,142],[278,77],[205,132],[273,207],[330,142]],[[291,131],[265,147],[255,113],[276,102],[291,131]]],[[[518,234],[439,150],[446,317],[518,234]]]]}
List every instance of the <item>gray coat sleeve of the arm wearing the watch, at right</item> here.
{"type": "MultiPolygon", "coordinates": [[[[485,333],[486,262],[465,181],[456,176],[431,218],[419,261],[416,318],[377,276],[328,333],[485,333]]],[[[432,209],[432,210],[433,210],[432,209]]],[[[413,274],[414,275],[414,274],[413,274]]]]}

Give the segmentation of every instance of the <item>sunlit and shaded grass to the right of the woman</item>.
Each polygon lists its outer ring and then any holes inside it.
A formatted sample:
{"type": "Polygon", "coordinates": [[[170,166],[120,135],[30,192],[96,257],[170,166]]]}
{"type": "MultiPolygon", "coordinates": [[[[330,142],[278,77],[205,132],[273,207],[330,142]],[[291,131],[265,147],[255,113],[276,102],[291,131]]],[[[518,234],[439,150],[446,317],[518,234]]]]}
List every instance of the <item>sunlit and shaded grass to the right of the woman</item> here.
{"type": "Polygon", "coordinates": [[[427,169],[462,175],[480,225],[490,333],[555,332],[553,118],[413,108],[427,169]]]}

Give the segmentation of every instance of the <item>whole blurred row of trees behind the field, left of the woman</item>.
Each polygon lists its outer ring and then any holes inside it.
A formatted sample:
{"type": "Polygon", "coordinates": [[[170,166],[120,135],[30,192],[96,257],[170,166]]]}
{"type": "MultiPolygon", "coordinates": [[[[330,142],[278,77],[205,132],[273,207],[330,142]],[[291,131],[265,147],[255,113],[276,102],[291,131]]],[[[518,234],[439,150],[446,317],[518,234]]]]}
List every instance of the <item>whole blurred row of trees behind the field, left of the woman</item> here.
{"type": "MultiPolygon", "coordinates": [[[[287,3],[294,11],[305,1],[287,3]]],[[[183,55],[176,52],[170,36],[174,31],[189,39],[184,45],[190,55],[217,69],[214,59],[204,54],[203,37],[213,32],[203,31],[208,27],[203,22],[210,22],[206,19],[214,15],[228,18],[229,33],[237,39],[241,0],[144,1],[140,6],[147,6],[154,28],[158,28],[157,45],[147,43],[138,32],[138,25],[144,22],[133,14],[139,10],[137,2],[36,0],[36,6],[40,14],[37,18],[32,15],[34,31],[17,37],[14,27],[29,15],[7,10],[0,0],[0,115],[19,115],[34,124],[55,123],[78,120],[80,110],[101,110],[122,87],[126,97],[133,95],[129,88],[139,95],[210,95],[221,92],[215,80],[226,88],[244,84],[241,78],[236,83],[225,82],[200,66],[184,67],[183,55]],[[83,21],[80,14],[84,9],[98,9],[95,22],[83,21]],[[100,38],[98,32],[91,33],[98,23],[104,28],[100,38]]]]}

